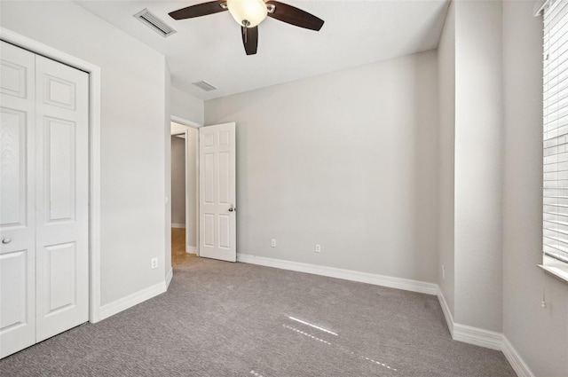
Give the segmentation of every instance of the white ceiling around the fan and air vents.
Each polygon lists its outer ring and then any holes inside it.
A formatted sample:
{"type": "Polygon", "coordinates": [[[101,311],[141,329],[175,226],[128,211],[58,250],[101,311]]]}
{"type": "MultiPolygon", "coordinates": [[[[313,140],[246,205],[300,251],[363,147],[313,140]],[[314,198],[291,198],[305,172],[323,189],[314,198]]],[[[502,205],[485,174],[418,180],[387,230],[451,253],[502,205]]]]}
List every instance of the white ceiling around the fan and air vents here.
{"type": "Polygon", "coordinates": [[[448,5],[448,0],[280,0],[325,20],[324,26],[314,32],[267,18],[258,27],[258,52],[247,56],[241,27],[229,12],[178,21],[168,15],[205,1],[77,3],[162,52],[172,84],[201,99],[434,49],[448,5]],[[164,38],[132,17],[144,8],[177,33],[164,38]],[[201,80],[217,90],[206,92],[192,85],[201,80]]]}

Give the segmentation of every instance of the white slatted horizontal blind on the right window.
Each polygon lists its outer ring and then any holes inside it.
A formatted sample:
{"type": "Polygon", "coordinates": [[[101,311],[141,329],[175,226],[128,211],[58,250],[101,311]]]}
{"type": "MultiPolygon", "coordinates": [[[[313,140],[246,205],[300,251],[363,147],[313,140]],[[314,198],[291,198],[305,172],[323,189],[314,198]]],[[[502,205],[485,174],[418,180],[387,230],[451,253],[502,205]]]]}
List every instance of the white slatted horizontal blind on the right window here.
{"type": "Polygon", "coordinates": [[[543,251],[568,263],[568,0],[544,8],[543,251]]]}

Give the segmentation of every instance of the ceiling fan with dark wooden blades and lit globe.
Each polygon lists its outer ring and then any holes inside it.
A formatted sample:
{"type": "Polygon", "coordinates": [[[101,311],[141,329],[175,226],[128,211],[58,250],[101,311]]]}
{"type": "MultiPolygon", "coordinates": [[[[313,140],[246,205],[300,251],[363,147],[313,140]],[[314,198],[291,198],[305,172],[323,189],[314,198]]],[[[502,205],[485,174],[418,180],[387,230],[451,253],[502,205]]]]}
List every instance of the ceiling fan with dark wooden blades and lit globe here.
{"type": "Polygon", "coordinates": [[[247,55],[256,54],[258,24],[266,16],[315,31],[319,31],[324,22],[308,12],[274,0],[216,0],[187,6],[169,14],[174,20],[185,20],[225,11],[229,11],[241,25],[242,43],[247,55]]]}

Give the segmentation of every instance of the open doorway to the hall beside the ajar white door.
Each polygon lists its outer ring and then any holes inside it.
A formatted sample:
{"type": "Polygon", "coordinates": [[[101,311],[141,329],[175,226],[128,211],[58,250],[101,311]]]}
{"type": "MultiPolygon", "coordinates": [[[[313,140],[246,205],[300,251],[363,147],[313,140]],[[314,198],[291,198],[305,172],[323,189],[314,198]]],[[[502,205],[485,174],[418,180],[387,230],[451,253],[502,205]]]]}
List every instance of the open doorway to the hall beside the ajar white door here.
{"type": "Polygon", "coordinates": [[[171,122],[171,264],[199,255],[199,131],[171,122]]]}

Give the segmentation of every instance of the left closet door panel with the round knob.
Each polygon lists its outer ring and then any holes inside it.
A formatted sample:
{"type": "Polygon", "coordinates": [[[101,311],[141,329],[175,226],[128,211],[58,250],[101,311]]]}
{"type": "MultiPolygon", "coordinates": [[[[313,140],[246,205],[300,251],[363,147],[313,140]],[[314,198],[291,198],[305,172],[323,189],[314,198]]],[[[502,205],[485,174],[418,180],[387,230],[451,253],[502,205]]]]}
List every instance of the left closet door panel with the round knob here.
{"type": "Polygon", "coordinates": [[[0,43],[0,357],[5,357],[36,342],[35,55],[0,43]]]}

